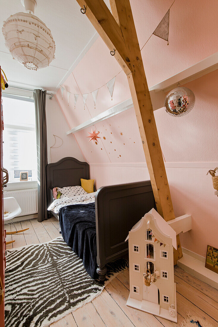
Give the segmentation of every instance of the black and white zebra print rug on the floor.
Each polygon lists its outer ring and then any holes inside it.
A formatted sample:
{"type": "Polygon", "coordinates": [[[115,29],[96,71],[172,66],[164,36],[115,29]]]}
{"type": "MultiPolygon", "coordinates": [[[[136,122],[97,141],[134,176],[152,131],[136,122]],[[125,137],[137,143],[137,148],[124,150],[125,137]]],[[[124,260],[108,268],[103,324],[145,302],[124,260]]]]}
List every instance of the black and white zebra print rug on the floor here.
{"type": "Polygon", "coordinates": [[[104,284],[93,280],[62,237],[6,252],[5,327],[44,327],[92,301],[120,271],[107,265],[104,284]]]}

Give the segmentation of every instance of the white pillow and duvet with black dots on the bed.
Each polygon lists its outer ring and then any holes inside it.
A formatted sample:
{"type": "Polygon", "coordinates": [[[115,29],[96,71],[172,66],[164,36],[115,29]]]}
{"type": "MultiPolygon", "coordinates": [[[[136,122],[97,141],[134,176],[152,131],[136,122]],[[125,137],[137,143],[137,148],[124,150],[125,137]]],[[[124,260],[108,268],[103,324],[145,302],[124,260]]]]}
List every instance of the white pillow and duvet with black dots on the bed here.
{"type": "Polygon", "coordinates": [[[48,210],[55,214],[58,214],[59,210],[67,205],[95,202],[96,192],[87,193],[81,186],[58,187],[58,191],[62,193],[60,199],[54,200],[48,207],[48,210]]]}

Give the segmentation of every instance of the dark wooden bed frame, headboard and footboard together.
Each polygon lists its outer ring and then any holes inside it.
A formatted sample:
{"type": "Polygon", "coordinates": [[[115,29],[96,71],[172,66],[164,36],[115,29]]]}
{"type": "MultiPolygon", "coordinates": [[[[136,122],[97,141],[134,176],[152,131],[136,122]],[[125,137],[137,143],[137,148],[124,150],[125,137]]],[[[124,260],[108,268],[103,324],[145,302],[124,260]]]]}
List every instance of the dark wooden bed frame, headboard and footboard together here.
{"type": "MultiPolygon", "coordinates": [[[[89,179],[89,164],[66,157],[46,167],[47,203],[53,202],[53,187],[81,186],[89,179]]],[[[95,195],[97,273],[105,279],[106,264],[128,253],[125,238],[134,224],[155,208],[151,181],[100,187],[95,195]]],[[[58,215],[54,214],[56,218],[58,215]]]]}

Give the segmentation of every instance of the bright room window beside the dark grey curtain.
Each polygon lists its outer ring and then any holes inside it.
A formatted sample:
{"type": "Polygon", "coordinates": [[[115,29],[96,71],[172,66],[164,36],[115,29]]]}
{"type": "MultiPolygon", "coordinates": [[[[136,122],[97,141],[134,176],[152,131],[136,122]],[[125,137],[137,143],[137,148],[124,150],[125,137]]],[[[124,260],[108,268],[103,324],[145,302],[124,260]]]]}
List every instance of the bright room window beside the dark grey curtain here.
{"type": "Polygon", "coordinates": [[[8,169],[9,182],[20,181],[22,171],[28,171],[28,181],[36,181],[34,102],[29,98],[6,96],[3,96],[3,164],[8,169]]]}

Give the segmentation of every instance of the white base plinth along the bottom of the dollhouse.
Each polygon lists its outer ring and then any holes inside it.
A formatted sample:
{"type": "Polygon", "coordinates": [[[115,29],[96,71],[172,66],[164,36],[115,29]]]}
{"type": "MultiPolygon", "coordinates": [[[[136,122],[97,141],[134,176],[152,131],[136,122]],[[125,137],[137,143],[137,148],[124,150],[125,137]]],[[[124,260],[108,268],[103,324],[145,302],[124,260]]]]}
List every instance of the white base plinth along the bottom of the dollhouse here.
{"type": "MultiPolygon", "coordinates": [[[[176,284],[174,283],[174,292],[175,292],[175,299],[176,299],[176,284]]],[[[171,317],[169,315],[169,311],[163,308],[160,308],[159,304],[150,302],[150,301],[138,301],[135,299],[130,298],[130,295],[128,297],[128,300],[126,302],[126,305],[135,308],[135,309],[139,309],[141,311],[144,312],[148,312],[151,313],[152,315],[161,317],[161,318],[165,318],[167,320],[171,320],[173,322],[177,322],[177,315],[175,317],[171,317]]],[[[176,301],[175,301],[175,312],[177,312],[177,308],[176,308],[176,301]]]]}

